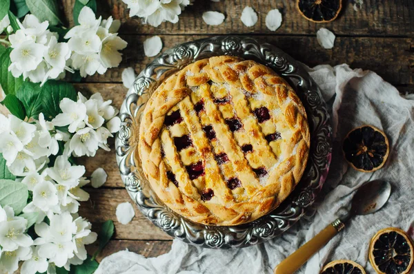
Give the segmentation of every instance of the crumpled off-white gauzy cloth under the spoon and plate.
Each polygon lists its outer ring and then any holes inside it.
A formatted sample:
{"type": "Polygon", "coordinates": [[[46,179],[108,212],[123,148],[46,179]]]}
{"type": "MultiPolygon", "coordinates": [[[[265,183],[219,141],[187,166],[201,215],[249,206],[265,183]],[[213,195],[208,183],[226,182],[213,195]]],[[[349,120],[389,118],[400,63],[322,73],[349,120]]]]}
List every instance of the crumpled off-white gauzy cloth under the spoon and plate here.
{"type": "Polygon", "coordinates": [[[404,98],[375,72],[351,70],[345,64],[319,65],[308,71],[332,109],[334,133],[331,169],[314,205],[315,214],[302,218],[279,238],[257,246],[213,250],[174,240],[171,251],[159,257],[119,251],[103,259],[96,273],[270,274],[286,256],[333,222],[336,211],[351,200],[350,193],[357,187],[368,180],[383,179],[392,184],[386,206],[377,213],[353,218],[298,272],[319,273],[331,260],[348,259],[364,266],[367,273],[375,273],[368,261],[371,237],[388,226],[408,231],[414,220],[414,96],[404,98]],[[391,145],[386,165],[373,173],[355,171],[342,156],[344,136],[364,124],[382,129],[391,145]]]}

